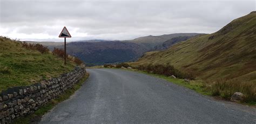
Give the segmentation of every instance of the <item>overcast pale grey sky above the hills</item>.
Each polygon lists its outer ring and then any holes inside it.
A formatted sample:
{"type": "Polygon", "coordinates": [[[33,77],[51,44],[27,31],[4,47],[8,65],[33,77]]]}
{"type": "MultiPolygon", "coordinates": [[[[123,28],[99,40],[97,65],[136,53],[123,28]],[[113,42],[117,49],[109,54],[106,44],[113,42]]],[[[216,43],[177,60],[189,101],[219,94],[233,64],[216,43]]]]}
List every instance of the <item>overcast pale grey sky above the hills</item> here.
{"type": "Polygon", "coordinates": [[[129,40],[171,33],[213,33],[256,9],[250,1],[0,0],[0,36],[61,42],[129,40]]]}

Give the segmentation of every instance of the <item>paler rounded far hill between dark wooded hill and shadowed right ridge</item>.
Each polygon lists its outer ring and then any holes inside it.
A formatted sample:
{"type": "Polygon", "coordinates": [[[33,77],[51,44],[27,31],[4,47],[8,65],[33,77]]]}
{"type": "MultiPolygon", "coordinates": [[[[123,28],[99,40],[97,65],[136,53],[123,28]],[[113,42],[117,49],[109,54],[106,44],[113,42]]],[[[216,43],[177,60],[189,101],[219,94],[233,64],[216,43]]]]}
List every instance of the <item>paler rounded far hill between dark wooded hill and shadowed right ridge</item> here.
{"type": "Polygon", "coordinates": [[[127,40],[127,42],[137,43],[147,47],[148,50],[152,50],[155,46],[163,44],[166,40],[172,39],[174,37],[180,36],[196,36],[199,33],[173,33],[170,35],[161,35],[161,36],[145,36],[139,37],[133,40],[127,40]]]}

